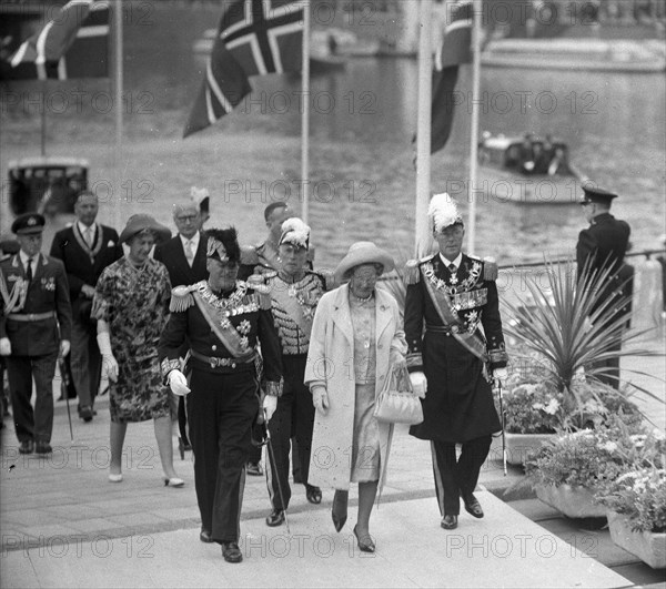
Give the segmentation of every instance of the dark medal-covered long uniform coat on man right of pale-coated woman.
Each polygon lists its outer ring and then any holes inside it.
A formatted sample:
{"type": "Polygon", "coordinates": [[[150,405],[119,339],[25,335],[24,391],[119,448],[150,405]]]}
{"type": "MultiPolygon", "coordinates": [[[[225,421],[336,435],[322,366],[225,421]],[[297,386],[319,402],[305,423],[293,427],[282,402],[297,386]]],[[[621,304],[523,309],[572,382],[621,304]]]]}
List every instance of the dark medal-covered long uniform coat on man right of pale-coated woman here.
{"type": "Polygon", "coordinates": [[[438,254],[413,263],[407,272],[407,364],[427,378],[424,420],[410,430],[418,438],[463,443],[501,429],[488,369],[506,366],[507,357],[497,287],[488,274],[484,262],[463,255],[452,275],[438,254]],[[460,317],[456,326],[442,321],[425,281],[447,297],[460,317]],[[483,357],[461,343],[455,331],[473,335],[483,357]]]}

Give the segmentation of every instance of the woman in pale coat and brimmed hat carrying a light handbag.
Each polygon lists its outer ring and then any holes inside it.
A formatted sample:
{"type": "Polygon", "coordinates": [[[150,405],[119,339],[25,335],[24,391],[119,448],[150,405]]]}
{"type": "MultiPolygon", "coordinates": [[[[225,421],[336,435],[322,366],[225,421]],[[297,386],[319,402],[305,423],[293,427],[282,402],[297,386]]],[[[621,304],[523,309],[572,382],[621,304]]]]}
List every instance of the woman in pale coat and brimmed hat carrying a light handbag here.
{"type": "Polygon", "coordinates": [[[370,512],[383,485],[393,426],[374,416],[375,399],[390,366],[404,364],[407,346],[397,303],[377,278],[393,258],[372,242],[357,242],[335,270],[349,284],[319,303],[305,367],[305,384],[316,408],[309,484],[335,489],[332,518],[346,521],[351,483],[359,484],[359,548],[374,552],[370,512]]]}

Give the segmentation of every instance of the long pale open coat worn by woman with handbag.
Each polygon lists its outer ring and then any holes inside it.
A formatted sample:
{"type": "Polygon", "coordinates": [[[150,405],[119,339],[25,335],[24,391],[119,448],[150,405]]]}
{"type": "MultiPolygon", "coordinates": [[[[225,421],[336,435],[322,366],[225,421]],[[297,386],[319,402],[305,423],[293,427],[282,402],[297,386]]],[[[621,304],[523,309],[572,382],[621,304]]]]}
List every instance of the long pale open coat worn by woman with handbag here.
{"type": "MultiPolygon", "coordinates": [[[[402,319],[395,298],[375,290],[375,399],[389,377],[392,351],[407,351],[402,319]]],[[[305,384],[322,384],[329,394],[329,412],[315,413],[307,483],[340,490],[350,488],[354,431],[354,332],[349,304],[349,285],[326,293],[320,301],[310,335],[305,384]]],[[[393,425],[379,424],[381,474],[380,488],[386,476],[393,425]]]]}

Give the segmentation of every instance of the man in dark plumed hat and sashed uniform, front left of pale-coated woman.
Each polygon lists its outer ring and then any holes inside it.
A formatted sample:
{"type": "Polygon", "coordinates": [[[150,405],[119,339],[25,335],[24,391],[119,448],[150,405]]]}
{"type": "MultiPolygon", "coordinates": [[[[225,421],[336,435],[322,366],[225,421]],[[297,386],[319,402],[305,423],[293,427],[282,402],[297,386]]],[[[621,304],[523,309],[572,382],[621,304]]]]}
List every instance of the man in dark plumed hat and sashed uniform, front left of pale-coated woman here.
{"type": "Polygon", "coordinates": [[[224,559],[240,562],[245,461],[260,409],[256,346],[263,356],[268,419],[282,392],[281,347],[268,291],[236,280],[241,252],[235,230],[213,229],[206,235],[209,278],[174,288],[160,357],[173,393],[188,395],[200,539],[221,544],[224,559]],[[185,341],[189,379],[179,362],[185,341]]]}

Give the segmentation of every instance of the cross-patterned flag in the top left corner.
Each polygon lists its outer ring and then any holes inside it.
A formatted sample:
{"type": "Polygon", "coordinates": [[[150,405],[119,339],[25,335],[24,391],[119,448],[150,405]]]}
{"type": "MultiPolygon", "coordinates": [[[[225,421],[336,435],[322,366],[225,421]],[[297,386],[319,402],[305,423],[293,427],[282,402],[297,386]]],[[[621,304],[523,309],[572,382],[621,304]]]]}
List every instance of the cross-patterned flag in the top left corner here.
{"type": "Polygon", "coordinates": [[[9,58],[9,77],[24,79],[108,75],[109,4],[71,0],[9,58]]]}

